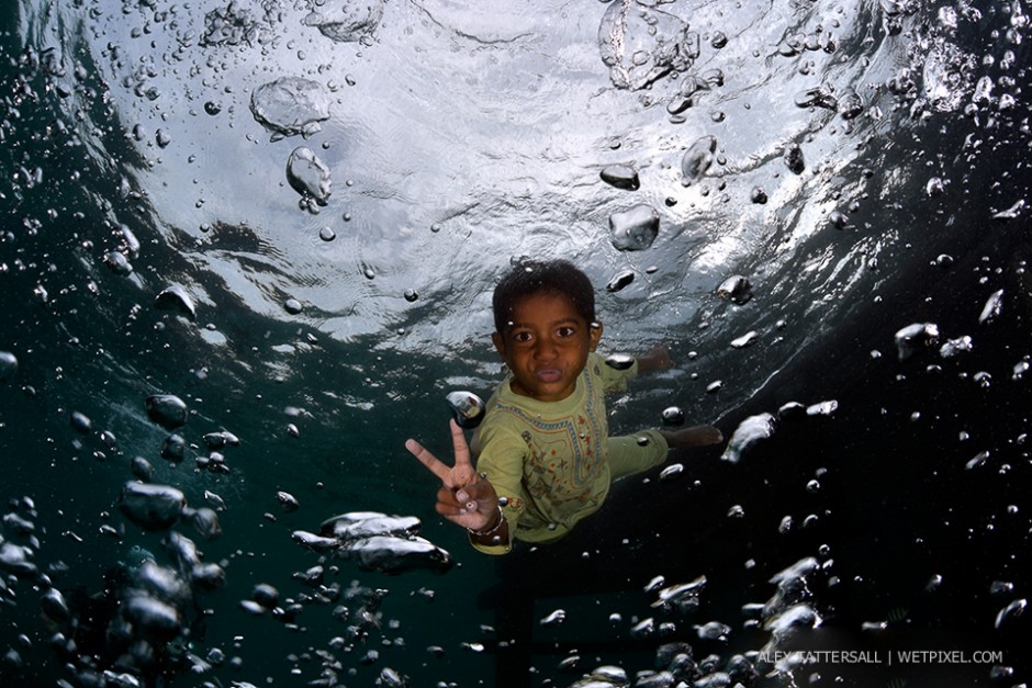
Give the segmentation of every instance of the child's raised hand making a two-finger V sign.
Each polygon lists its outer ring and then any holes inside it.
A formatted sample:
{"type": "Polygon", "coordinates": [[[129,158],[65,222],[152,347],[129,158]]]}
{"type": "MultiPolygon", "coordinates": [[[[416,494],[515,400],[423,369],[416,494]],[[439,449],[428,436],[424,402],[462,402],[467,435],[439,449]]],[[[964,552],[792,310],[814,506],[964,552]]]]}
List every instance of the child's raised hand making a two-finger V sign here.
{"type": "Polygon", "coordinates": [[[405,449],[440,478],[441,488],[437,492],[437,512],[463,528],[483,530],[496,518],[498,495],[494,486],[473,470],[470,448],[465,443],[462,428],[455,420],[450,425],[451,443],[456,456],[455,466],[449,467],[415,440],[406,441],[405,449]]]}

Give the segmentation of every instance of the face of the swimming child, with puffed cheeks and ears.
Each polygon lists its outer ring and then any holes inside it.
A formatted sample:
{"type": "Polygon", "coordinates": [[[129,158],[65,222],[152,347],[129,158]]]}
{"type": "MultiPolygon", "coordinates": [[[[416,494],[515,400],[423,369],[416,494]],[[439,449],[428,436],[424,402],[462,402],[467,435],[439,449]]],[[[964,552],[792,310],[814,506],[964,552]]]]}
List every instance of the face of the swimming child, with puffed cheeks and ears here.
{"type": "Polygon", "coordinates": [[[493,339],[513,372],[513,392],[541,402],[570,396],[587,353],[598,343],[602,325],[592,327],[569,298],[547,293],[517,301],[512,323],[493,339]]]}

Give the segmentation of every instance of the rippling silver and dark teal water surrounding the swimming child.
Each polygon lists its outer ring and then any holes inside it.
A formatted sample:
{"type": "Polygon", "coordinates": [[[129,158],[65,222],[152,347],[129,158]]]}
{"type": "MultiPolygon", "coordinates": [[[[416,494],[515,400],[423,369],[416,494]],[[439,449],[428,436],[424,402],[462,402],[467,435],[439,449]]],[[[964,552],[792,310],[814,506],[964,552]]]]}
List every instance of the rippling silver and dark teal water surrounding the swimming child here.
{"type": "Polygon", "coordinates": [[[3,13],[4,685],[569,686],[599,665],[665,668],[671,642],[711,657],[688,674],[709,686],[739,654],[758,676],[734,680],[754,685],[1028,680],[1023,3],[319,7],[3,13]],[[613,41],[626,56],[610,72],[613,41]],[[676,112],[693,76],[706,86],[676,112]],[[281,77],[317,84],[294,103],[319,120],[307,137],[253,114],[281,77]],[[715,160],[685,184],[685,150],[707,135],[715,160]],[[300,146],[332,178],[324,205],[288,180],[300,146]],[[599,179],[617,163],[640,189],[599,179]],[[639,203],[659,236],[619,251],[609,216],[639,203]],[[837,407],[785,414],[737,464],[672,456],[678,477],[619,485],[560,545],[475,555],[402,442],[444,451],[445,394],[490,394],[490,294],[519,255],[583,266],[607,350],[671,345],[677,369],[614,401],[617,431],[671,405],[728,437],[785,404],[837,407]],[[630,285],[604,289],[628,270],[630,285]],[[747,303],[718,295],[731,275],[750,280],[747,303]],[[195,317],[156,307],[173,285],[195,317]],[[899,349],[912,324],[938,338],[899,349]],[[943,354],[964,336],[969,350],[943,354]],[[190,409],[181,461],[161,458],[170,430],[145,410],[159,393],[190,409]],[[222,429],[240,439],[222,450],[229,472],[200,469],[222,429]],[[224,568],[221,589],[190,586],[167,532],[120,509],[135,456],[191,507],[214,506],[205,490],[224,501],[221,535],[170,529],[224,568]],[[339,599],[313,599],[295,574],[322,560],[291,533],[362,510],[418,517],[456,566],[388,575],[329,559],[339,599]],[[104,576],[141,549],[189,588],[170,651],[146,623],[127,629],[167,653],[150,665],[142,645],[135,664],[104,650],[128,595],[104,596],[104,576]],[[654,577],[702,575],[697,605],[651,606],[654,577]],[[240,606],[259,584],[280,611],[240,606]],[[291,601],[300,611],[283,612],[291,601]],[[540,623],[557,609],[564,623],[540,623]],[[700,636],[711,621],[723,639],[700,636]],[[775,647],[995,654],[788,669],[755,654],[775,647]]]}

